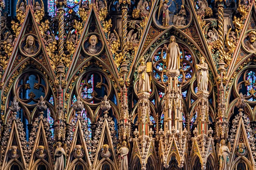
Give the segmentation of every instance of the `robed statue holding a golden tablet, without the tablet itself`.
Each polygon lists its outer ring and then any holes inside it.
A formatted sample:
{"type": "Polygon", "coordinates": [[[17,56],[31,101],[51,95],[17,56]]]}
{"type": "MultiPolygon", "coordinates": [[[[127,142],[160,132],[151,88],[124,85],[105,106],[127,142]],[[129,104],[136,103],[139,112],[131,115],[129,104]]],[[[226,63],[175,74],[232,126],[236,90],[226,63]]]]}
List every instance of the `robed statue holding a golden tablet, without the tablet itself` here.
{"type": "Polygon", "coordinates": [[[151,72],[147,72],[147,66],[145,65],[144,59],[140,60],[140,66],[138,68],[138,77],[139,77],[139,91],[150,91],[150,82],[151,82],[151,72]]]}

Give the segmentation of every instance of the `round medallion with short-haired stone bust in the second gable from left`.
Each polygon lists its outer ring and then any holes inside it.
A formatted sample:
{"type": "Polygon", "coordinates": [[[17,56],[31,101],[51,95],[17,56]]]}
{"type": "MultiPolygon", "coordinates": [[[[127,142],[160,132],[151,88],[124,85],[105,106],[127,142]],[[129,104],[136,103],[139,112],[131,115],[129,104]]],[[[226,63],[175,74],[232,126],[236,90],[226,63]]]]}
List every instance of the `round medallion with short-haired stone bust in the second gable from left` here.
{"type": "Polygon", "coordinates": [[[89,56],[95,56],[103,51],[103,42],[98,34],[88,34],[84,39],[83,50],[89,56]]]}

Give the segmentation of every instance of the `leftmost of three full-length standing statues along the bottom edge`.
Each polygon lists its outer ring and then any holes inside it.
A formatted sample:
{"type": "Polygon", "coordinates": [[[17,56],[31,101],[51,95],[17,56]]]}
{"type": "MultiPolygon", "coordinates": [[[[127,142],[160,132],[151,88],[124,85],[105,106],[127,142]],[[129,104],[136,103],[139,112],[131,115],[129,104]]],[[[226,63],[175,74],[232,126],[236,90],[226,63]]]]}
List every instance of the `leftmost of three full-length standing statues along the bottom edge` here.
{"type": "Polygon", "coordinates": [[[61,147],[61,142],[57,142],[57,148],[54,152],[54,170],[64,170],[66,167],[66,152],[61,147]]]}

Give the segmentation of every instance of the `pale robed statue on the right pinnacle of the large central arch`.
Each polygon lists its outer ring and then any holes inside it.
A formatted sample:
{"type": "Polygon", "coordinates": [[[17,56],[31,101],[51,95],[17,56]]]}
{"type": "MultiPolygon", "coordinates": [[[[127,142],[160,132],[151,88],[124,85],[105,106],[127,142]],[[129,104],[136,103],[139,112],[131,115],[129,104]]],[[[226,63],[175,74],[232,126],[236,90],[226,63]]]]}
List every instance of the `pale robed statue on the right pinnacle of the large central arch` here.
{"type": "Polygon", "coordinates": [[[204,57],[200,57],[200,64],[195,65],[197,69],[198,91],[207,91],[208,65],[204,60],[204,57]]]}

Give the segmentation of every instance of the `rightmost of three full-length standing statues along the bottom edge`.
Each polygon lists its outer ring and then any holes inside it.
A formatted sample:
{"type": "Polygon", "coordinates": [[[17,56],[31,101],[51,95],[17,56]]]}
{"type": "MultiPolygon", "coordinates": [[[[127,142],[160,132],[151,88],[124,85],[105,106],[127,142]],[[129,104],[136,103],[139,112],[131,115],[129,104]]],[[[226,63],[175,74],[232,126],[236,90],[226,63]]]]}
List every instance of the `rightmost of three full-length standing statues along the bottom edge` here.
{"type": "Polygon", "coordinates": [[[218,160],[220,169],[219,170],[228,170],[228,162],[229,162],[230,150],[225,145],[225,140],[221,140],[221,147],[218,150],[218,160]]]}

